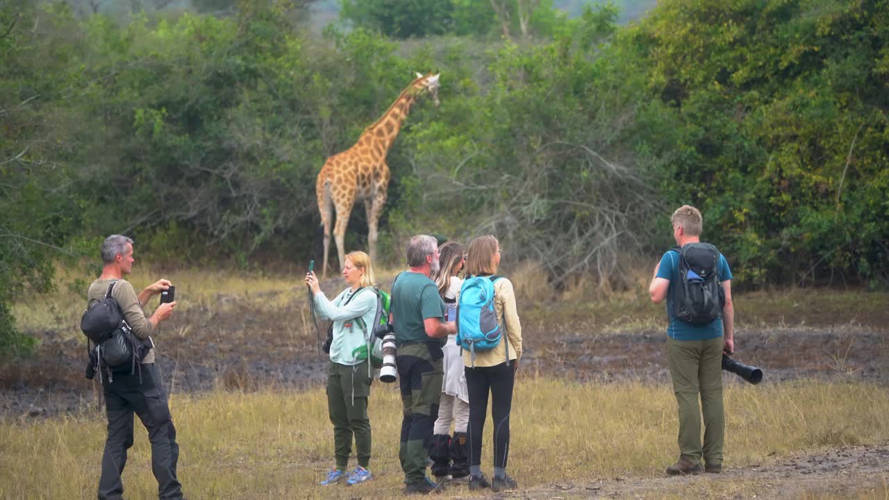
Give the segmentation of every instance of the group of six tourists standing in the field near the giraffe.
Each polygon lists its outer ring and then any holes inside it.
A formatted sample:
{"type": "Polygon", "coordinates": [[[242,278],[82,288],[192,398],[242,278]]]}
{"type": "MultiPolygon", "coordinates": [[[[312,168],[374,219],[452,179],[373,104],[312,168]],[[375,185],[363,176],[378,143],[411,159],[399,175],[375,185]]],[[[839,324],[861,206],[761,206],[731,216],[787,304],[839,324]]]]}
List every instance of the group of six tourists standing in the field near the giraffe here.
{"type": "MultiPolygon", "coordinates": [[[[715,247],[701,243],[702,218],[696,208],[678,208],[671,222],[677,247],[663,254],[649,287],[653,302],[667,301],[667,358],[679,415],[680,456],[666,472],[717,473],[722,470],[725,433],[720,363],[722,354],[731,354],[734,349],[732,274],[725,257],[715,247]],[[690,267],[689,262],[704,264],[690,267]],[[712,280],[708,273],[716,273],[717,318],[689,319],[687,283],[696,283],[699,288],[701,283],[706,286],[708,279],[712,280]],[[683,290],[686,295],[682,295],[683,290]],[[702,444],[699,397],[705,427],[702,444]]],[[[396,340],[396,368],[403,402],[398,456],[404,471],[405,493],[441,491],[447,482],[467,483],[470,489],[517,488],[516,480],[506,469],[513,387],[522,358],[522,327],[513,285],[508,278],[496,275],[501,254],[500,243],[493,236],[475,238],[465,248],[428,235],[415,236],[407,243],[408,269],[393,281],[388,318],[396,340]],[[457,343],[455,319],[461,275],[462,279],[490,278],[493,283],[493,310],[502,341],[492,349],[469,352],[457,343]],[[489,399],[493,425],[491,480],[481,469],[482,432],[489,399]],[[430,464],[436,480],[427,475],[430,464]]],[[[138,415],[148,429],[159,497],[179,499],[179,446],[164,383],[155,365],[154,343],[150,340],[155,328],[171,317],[176,302],[162,303],[150,316],[144,310],[150,297],[161,294],[172,283],[160,279],[140,294],[135,293],[124,279],[134,262],[130,238],[108,237],[102,244],[101,256],[104,267],[100,278],[89,288],[88,300],[92,303],[106,295],[113,296],[133,334],[144,343],[146,354],[140,357],[138,374],[126,370],[101,381],[108,440],[102,456],[99,498],[122,498],[121,474],[127,449],[132,447],[133,415],[138,415]]],[[[375,326],[378,295],[372,291],[375,284],[368,255],[352,252],[344,261],[342,276],[347,287],[332,300],[321,291],[313,272],[309,271],[305,278],[316,311],[332,320],[327,404],[333,425],[335,464],[321,481],[324,486],[357,485],[373,478],[371,423],[367,413],[372,370],[366,345],[375,326]],[[348,470],[353,440],[357,464],[348,470]]]]}

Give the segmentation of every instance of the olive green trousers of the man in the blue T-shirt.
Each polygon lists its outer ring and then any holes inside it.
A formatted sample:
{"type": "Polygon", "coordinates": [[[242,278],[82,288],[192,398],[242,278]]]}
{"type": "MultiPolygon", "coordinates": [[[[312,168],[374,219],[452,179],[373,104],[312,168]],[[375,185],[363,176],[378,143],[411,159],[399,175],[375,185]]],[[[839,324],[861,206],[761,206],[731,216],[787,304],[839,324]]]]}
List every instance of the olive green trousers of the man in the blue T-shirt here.
{"type": "Polygon", "coordinates": [[[679,453],[692,461],[722,465],[725,414],[722,399],[723,338],[667,339],[669,373],[679,407],[679,453]],[[701,395],[701,407],[698,395],[701,395]],[[704,443],[701,446],[701,409],[704,443]]]}

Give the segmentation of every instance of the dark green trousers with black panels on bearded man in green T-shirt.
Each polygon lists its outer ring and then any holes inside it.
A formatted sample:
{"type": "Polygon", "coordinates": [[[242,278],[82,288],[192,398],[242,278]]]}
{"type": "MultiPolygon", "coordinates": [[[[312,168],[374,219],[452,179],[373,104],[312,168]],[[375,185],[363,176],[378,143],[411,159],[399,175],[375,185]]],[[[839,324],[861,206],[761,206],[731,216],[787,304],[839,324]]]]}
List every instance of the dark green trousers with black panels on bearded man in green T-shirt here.
{"type": "Polygon", "coordinates": [[[445,353],[438,343],[398,346],[396,366],[404,407],[398,458],[405,484],[419,484],[426,480],[428,449],[445,378],[444,358],[445,353]]]}

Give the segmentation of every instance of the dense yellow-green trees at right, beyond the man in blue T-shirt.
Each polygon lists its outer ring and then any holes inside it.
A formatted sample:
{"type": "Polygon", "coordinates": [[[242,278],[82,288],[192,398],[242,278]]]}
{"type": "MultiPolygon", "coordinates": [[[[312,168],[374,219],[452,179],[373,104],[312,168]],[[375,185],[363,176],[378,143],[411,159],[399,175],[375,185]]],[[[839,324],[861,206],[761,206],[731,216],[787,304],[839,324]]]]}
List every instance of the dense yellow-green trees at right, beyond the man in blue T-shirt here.
{"type": "Polygon", "coordinates": [[[664,188],[742,282],[889,282],[886,20],[885,1],[669,1],[634,29],[682,122],[664,188]]]}

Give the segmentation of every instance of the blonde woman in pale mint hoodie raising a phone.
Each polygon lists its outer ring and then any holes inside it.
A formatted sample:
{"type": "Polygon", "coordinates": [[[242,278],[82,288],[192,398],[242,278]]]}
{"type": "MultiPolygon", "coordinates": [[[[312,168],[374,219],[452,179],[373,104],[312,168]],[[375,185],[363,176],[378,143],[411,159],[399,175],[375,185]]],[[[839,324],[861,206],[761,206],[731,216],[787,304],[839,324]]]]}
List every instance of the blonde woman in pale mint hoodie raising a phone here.
{"type": "Polygon", "coordinates": [[[327,410],[333,424],[336,465],[327,474],[327,479],[321,481],[323,486],[341,480],[354,485],[373,477],[368,469],[371,460],[371,423],[367,416],[367,398],[371,393],[372,377],[367,367],[366,347],[372,332],[366,330],[373,327],[377,295],[370,289],[364,290],[373,286],[370,257],[364,252],[346,255],[342,276],[348,286],[330,301],[318,286],[315,273],[309,271],[306,275],[306,284],[312,291],[318,316],[333,322],[331,363],[327,370],[327,410]],[[364,320],[365,328],[359,327],[359,318],[364,320]],[[347,474],[353,436],[358,464],[347,474]]]}

